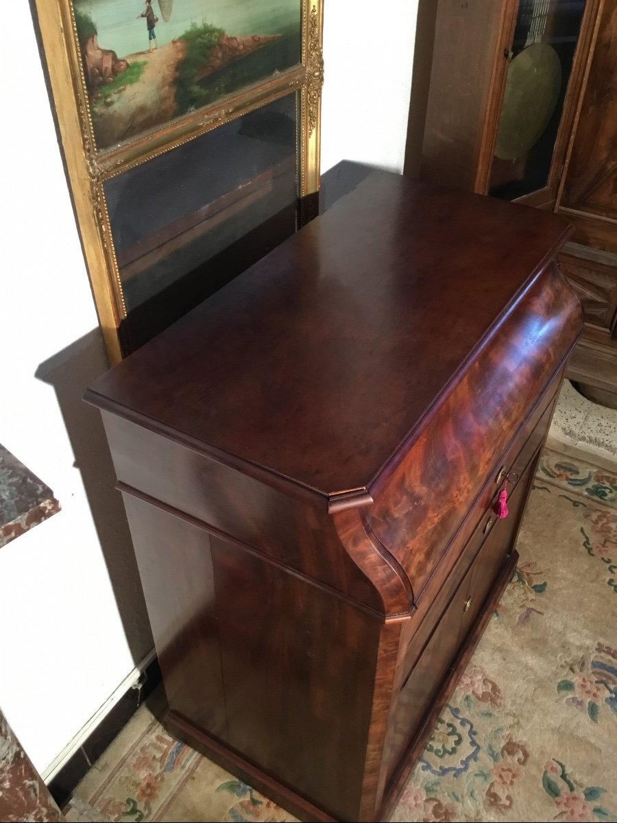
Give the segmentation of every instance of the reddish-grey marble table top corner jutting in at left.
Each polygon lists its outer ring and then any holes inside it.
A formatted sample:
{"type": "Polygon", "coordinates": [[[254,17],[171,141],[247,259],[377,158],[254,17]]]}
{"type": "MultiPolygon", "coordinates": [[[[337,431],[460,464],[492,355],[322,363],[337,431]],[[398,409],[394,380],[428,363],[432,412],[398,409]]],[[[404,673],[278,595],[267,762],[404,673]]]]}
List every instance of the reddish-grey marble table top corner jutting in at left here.
{"type": "Polygon", "coordinates": [[[49,486],[0,444],[0,546],[58,511],[49,486]]]}

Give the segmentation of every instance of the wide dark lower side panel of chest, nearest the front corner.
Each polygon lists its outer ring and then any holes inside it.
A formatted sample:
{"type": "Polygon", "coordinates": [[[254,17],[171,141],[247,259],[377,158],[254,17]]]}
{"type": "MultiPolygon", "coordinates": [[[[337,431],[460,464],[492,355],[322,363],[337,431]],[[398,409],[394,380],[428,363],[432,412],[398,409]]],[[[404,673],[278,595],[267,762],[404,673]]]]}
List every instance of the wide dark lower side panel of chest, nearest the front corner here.
{"type": "Polygon", "coordinates": [[[229,743],[357,820],[383,622],[212,537],[229,743]]]}

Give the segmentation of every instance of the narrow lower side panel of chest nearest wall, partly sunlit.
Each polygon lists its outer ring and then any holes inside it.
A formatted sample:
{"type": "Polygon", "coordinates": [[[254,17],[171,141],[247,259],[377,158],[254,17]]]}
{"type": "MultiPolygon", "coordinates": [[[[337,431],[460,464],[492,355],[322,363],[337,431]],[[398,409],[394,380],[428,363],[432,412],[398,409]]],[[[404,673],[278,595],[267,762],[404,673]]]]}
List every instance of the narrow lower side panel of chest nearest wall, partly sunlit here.
{"type": "Polygon", "coordinates": [[[210,536],[123,495],[169,708],[227,740],[210,536]]]}

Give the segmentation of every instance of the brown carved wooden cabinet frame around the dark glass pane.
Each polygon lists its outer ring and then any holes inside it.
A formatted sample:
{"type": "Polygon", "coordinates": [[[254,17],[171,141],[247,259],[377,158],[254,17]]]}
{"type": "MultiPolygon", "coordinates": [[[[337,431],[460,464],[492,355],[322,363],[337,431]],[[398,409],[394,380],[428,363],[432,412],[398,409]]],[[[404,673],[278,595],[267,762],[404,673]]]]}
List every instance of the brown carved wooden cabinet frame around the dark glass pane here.
{"type": "MultiPolygon", "coordinates": [[[[406,174],[488,194],[508,50],[520,0],[420,0],[406,174]],[[424,122],[423,122],[424,120],[424,122]]],[[[591,400],[617,405],[615,40],[612,0],[586,0],[546,184],[515,202],[562,214],[573,243],[559,264],[586,328],[568,377],[591,400]],[[600,396],[612,392],[615,399],[600,396]]]]}

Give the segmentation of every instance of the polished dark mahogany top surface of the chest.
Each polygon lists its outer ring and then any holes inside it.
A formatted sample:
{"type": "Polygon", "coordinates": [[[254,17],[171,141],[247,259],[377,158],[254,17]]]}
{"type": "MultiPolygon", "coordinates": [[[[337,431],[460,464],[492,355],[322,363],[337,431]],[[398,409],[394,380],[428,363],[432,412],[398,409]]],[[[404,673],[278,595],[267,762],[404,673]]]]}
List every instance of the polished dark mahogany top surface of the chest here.
{"type": "Polygon", "coordinates": [[[375,172],[86,399],[273,485],[364,490],[568,233],[375,172]]]}

